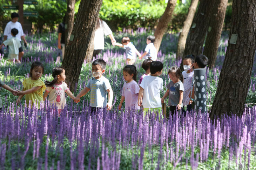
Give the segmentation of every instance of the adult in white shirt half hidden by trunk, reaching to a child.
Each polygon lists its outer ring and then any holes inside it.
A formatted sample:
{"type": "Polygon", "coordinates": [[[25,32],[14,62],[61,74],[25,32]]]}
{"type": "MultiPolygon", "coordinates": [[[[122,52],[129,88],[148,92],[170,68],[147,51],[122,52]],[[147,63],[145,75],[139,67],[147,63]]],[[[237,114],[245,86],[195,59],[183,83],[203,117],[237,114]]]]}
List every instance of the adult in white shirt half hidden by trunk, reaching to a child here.
{"type": "Polygon", "coordinates": [[[113,33],[108,27],[107,23],[102,21],[99,17],[97,19],[95,29],[93,57],[96,57],[96,55],[98,55],[104,49],[104,35],[109,36],[112,45],[115,45],[116,43],[113,33]]]}

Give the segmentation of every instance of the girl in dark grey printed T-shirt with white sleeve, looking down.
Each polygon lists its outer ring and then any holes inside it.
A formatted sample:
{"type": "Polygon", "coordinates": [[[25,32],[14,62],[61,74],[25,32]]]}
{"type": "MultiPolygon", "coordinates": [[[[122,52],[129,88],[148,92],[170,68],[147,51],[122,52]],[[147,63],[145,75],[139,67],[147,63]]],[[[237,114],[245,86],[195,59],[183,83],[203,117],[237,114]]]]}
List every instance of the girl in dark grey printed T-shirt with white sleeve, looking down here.
{"type": "MultiPolygon", "coordinates": [[[[169,96],[168,106],[170,106],[171,116],[174,115],[174,112],[179,112],[182,109],[182,99],[183,99],[183,91],[184,87],[181,82],[183,80],[181,70],[178,67],[171,67],[168,71],[169,77],[171,81],[167,85],[167,91],[161,98],[162,103],[164,102],[164,98],[169,96]]],[[[167,119],[169,119],[169,114],[166,115],[167,119]]]]}

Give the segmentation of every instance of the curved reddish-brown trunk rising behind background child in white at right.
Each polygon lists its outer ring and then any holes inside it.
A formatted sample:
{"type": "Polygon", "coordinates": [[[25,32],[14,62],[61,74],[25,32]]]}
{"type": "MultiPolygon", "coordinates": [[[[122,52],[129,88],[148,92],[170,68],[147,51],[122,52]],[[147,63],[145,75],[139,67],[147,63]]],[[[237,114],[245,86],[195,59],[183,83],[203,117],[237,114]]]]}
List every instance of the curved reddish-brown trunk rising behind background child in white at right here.
{"type": "Polygon", "coordinates": [[[176,6],[176,2],[177,0],[168,0],[167,7],[157,24],[155,34],[154,34],[155,36],[154,46],[156,47],[157,53],[162,42],[163,34],[166,31],[166,28],[169,22],[171,21],[171,17],[173,15],[173,10],[176,6]]]}

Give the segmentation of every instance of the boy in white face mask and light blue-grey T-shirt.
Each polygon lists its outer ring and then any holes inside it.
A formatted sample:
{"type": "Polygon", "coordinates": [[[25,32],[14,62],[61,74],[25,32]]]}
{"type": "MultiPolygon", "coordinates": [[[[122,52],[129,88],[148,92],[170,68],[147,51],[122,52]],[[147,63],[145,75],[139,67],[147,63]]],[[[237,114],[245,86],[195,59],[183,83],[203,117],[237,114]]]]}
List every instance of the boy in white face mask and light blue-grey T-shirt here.
{"type": "Polygon", "coordinates": [[[112,109],[113,90],[106,77],[103,76],[106,69],[106,62],[102,59],[96,59],[92,63],[93,78],[90,79],[87,86],[74,98],[74,102],[80,102],[80,97],[90,92],[90,106],[92,112],[96,109],[102,108],[112,109]],[[108,93],[108,103],[107,103],[108,93]]]}

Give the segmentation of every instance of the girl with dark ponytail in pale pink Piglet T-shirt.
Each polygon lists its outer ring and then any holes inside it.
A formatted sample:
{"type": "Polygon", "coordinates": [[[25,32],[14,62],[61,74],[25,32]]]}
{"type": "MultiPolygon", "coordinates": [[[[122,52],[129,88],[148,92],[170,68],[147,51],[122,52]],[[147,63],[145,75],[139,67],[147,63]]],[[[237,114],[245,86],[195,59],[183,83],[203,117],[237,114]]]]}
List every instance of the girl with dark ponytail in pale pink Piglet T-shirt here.
{"type": "Polygon", "coordinates": [[[64,105],[66,104],[66,97],[65,92],[68,94],[69,97],[72,99],[75,98],[75,96],[71,93],[71,91],[68,89],[67,84],[64,82],[66,79],[65,75],[65,69],[63,67],[54,67],[53,68],[53,81],[46,81],[46,90],[45,94],[43,94],[43,101],[45,101],[46,97],[49,94],[49,101],[52,105],[58,106],[59,113],[64,108],[64,105]]]}

